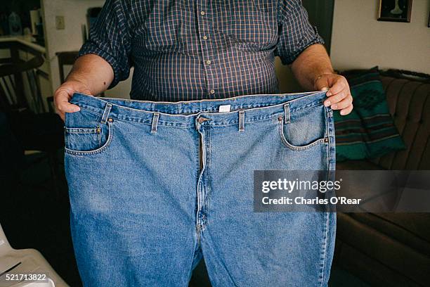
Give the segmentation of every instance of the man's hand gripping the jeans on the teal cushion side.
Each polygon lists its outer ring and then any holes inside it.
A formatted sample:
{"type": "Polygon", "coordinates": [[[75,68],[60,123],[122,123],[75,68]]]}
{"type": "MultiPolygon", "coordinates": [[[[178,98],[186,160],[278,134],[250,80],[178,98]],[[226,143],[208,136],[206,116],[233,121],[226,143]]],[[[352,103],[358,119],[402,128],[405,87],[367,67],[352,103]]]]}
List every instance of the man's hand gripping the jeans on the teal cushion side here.
{"type": "Polygon", "coordinates": [[[324,106],[333,110],[340,110],[341,115],[348,115],[353,109],[353,98],[349,90],[349,84],[345,77],[336,74],[320,75],[315,80],[315,89],[319,91],[327,91],[328,98],[324,101],[324,106]]]}

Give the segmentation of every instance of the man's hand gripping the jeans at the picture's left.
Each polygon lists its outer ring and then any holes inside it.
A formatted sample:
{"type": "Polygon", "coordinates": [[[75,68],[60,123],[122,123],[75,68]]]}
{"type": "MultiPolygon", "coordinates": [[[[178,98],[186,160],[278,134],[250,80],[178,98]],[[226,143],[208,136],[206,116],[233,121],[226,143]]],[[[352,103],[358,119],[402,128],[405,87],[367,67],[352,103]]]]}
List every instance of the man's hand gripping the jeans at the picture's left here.
{"type": "Polygon", "coordinates": [[[74,79],[67,80],[56,90],[54,94],[54,106],[56,113],[60,115],[61,119],[65,119],[65,113],[79,112],[81,108],[72,103],[69,103],[74,93],[82,93],[91,95],[91,91],[85,86],[84,83],[74,79]]]}

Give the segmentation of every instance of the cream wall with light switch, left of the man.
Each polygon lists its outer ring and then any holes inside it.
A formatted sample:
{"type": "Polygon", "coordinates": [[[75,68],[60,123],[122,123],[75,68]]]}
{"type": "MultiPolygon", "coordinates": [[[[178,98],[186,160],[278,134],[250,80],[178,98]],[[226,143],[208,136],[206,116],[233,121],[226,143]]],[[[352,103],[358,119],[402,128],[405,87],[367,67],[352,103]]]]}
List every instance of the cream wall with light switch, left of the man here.
{"type": "MultiPolygon", "coordinates": [[[[42,0],[41,7],[45,24],[46,52],[51,69],[51,86],[55,91],[60,85],[60,74],[56,52],[78,51],[83,44],[82,24],[86,24],[88,8],[103,6],[104,0],[42,0]],[[65,29],[56,30],[56,15],[64,16],[65,29]]],[[[68,72],[68,70],[65,70],[68,72]]],[[[66,74],[67,75],[67,74],[66,74]]],[[[129,96],[131,78],[107,91],[106,96],[129,96]]]]}

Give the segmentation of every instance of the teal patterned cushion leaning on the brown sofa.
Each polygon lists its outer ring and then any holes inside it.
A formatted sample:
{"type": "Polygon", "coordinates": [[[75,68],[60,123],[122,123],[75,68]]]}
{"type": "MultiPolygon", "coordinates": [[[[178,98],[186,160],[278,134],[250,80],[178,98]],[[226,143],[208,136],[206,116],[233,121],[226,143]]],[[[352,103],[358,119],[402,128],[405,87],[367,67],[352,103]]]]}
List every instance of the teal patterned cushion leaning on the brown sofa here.
{"type": "Polygon", "coordinates": [[[334,113],[337,161],[377,158],[404,149],[386,104],[379,70],[344,73],[351,86],[354,109],[349,115],[334,113]]]}

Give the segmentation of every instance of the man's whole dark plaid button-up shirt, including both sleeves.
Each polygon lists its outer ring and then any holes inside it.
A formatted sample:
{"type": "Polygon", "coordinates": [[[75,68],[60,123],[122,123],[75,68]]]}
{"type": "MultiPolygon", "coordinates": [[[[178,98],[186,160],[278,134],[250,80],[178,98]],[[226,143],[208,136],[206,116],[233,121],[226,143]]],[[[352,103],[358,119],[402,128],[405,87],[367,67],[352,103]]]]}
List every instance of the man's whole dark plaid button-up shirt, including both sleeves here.
{"type": "Polygon", "coordinates": [[[274,57],[289,64],[323,43],[300,0],[107,0],[79,56],[129,77],[131,98],[190,101],[278,92],[274,57]]]}

